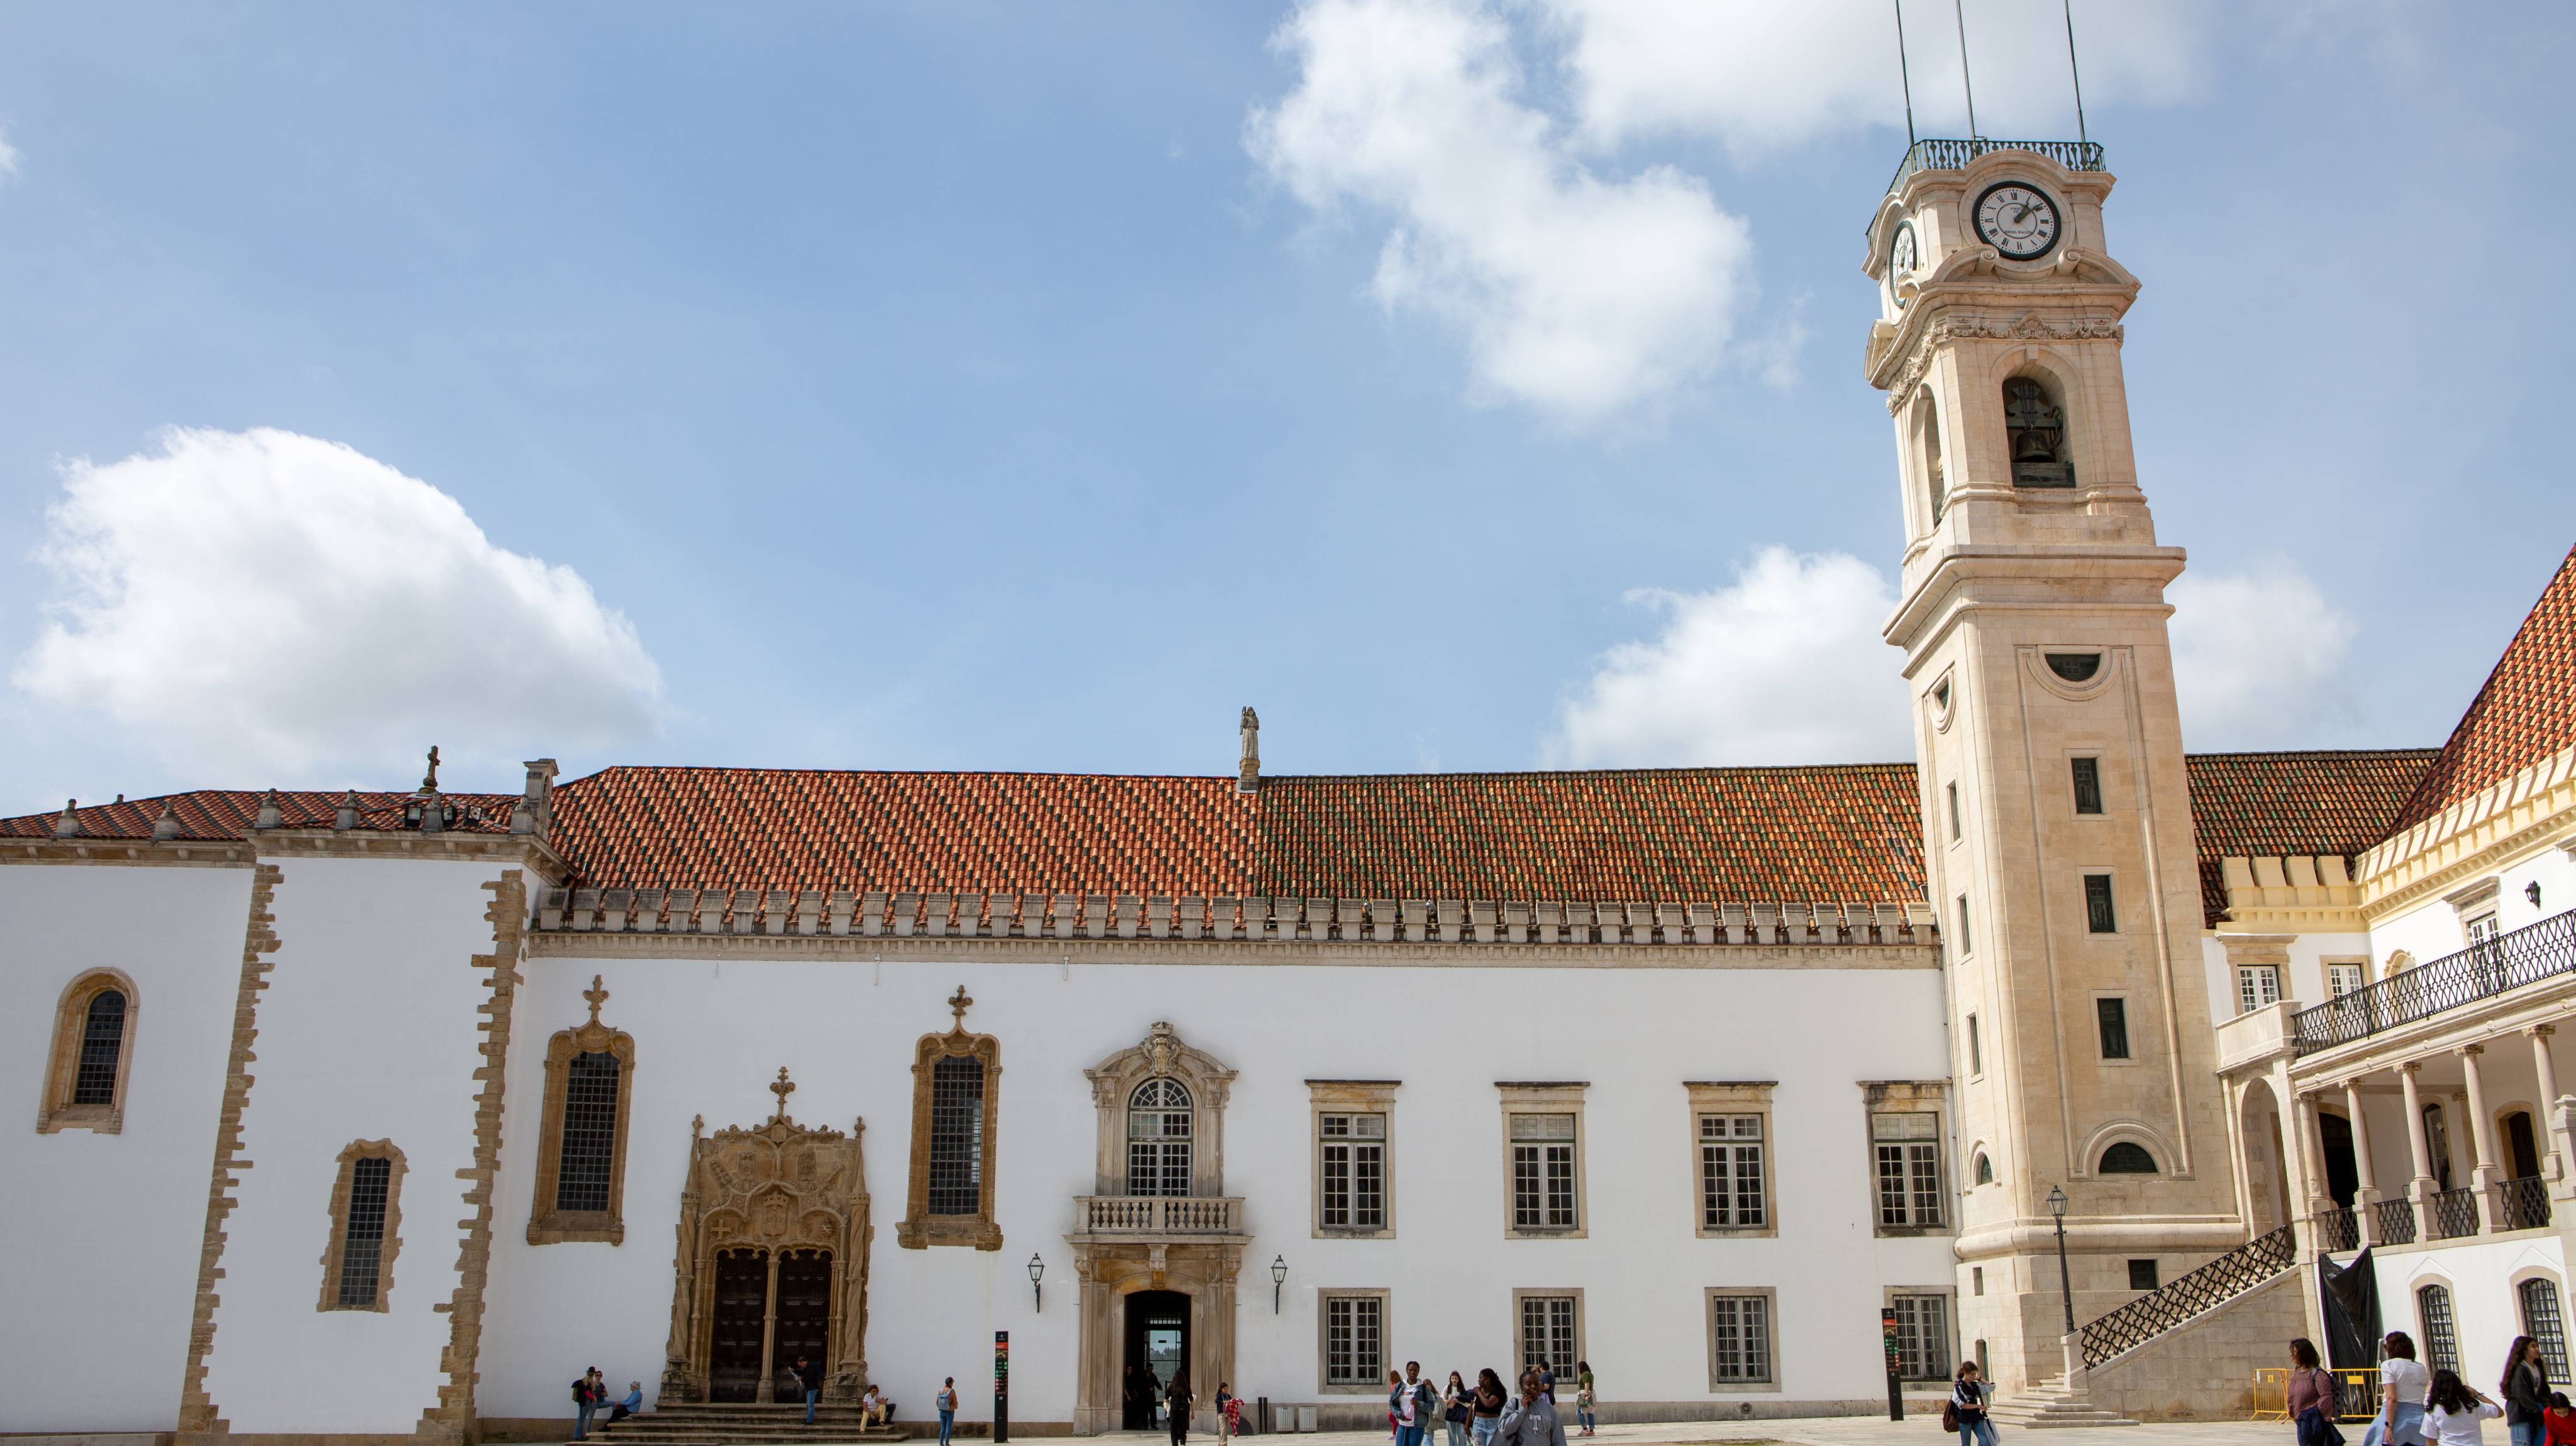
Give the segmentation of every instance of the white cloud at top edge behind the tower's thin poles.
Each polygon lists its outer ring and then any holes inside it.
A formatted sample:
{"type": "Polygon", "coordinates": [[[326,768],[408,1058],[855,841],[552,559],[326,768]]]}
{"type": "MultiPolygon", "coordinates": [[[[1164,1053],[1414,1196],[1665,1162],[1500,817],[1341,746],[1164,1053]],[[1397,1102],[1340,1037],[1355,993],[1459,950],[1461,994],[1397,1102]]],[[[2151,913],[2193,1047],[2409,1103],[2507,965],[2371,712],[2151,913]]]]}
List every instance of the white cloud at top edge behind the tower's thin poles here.
{"type": "MultiPolygon", "coordinates": [[[[1888,0],[1540,5],[1566,44],[1579,129],[1597,147],[1641,134],[1708,134],[1736,155],[1757,155],[1906,119],[1888,0]]],[[[2205,72],[2205,0],[2076,5],[2087,106],[2190,95],[2205,72]]],[[[1965,21],[1978,131],[2074,137],[2058,0],[1978,0],[1965,21]]],[[[1906,8],[1922,134],[1968,134],[1958,36],[1950,5],[1906,8]]]]}

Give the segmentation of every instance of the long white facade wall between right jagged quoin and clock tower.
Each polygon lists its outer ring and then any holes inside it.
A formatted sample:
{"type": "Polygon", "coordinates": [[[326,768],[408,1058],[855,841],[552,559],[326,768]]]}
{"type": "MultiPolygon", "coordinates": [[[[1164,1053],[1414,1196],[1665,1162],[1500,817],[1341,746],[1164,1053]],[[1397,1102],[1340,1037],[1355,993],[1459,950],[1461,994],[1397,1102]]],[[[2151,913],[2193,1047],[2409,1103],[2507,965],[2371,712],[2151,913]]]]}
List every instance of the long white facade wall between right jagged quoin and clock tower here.
{"type": "MultiPolygon", "coordinates": [[[[886,941],[889,954],[899,941],[886,941]]],[[[1461,959],[1473,954],[1461,951],[1461,959]]],[[[1510,959],[1492,951],[1484,959],[1510,959]]],[[[1878,1240],[1862,1080],[1945,1080],[1935,969],[1538,969],[1224,964],[953,964],[814,959],[531,959],[510,1062],[487,1418],[564,1415],[567,1384],[600,1366],[647,1397],[670,1333],[672,1250],[690,1116],[768,1119],[768,1083],[796,1077],[791,1113],[848,1129],[866,1116],[868,1366],[917,1418],[943,1376],[963,1415],[989,1415],[992,1333],[1012,1333],[1012,1418],[1074,1407],[1074,1196],[1095,1193],[1097,1111],[1084,1067],[1154,1021],[1236,1070],[1224,1124],[1226,1193],[1244,1196],[1234,1389],[1332,1400],[1319,1382],[1316,1299],[1388,1289],[1388,1356],[1427,1371],[1510,1374],[1512,1289],[1579,1289],[1582,1348],[1602,1400],[1710,1402],[1705,1286],[1775,1286],[1780,1382],[1747,1400],[1880,1400],[1878,1309],[1891,1286],[1953,1289],[1950,1237],[1878,1240]],[[603,1023],[636,1041],[623,1245],[526,1245],[546,1039],[582,1023],[592,974],[603,1023]],[[945,1031],[963,985],[969,1028],[1002,1044],[997,1253],[899,1250],[912,1126],[912,1049],[945,1031]],[[1396,1240],[1316,1240],[1306,1080],[1401,1080],[1394,1106],[1396,1240]],[[1587,1080],[1584,1240],[1504,1240],[1502,1080],[1587,1080]],[[1772,1170],[1780,1235],[1698,1240],[1695,1119],[1685,1080],[1777,1080],[1772,1170]],[[1046,1260],[1030,1304],[1028,1258],[1046,1260]],[[1288,1286],[1273,1315],[1270,1263],[1288,1286]]],[[[1110,1183],[1118,1191],[1118,1183],[1110,1183]]],[[[1955,1320],[1955,1315],[1953,1315],[1955,1320]]],[[[1203,1382],[1213,1387],[1213,1382],[1203,1382]]]]}

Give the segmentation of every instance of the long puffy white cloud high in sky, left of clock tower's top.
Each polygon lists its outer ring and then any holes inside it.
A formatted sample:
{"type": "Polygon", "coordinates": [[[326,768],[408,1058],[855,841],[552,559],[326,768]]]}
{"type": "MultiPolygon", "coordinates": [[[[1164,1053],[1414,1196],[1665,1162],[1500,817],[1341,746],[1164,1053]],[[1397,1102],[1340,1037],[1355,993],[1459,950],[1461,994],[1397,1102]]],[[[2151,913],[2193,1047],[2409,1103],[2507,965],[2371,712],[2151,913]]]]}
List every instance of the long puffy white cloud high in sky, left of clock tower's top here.
{"type": "Polygon", "coordinates": [[[1595,175],[1520,101],[1504,21],[1476,0],[1309,0],[1273,36],[1296,88],[1244,144],[1319,214],[1391,232],[1373,294],[1466,335],[1476,392],[1600,423],[1708,374],[1752,242],[1669,165],[1595,175]]]}

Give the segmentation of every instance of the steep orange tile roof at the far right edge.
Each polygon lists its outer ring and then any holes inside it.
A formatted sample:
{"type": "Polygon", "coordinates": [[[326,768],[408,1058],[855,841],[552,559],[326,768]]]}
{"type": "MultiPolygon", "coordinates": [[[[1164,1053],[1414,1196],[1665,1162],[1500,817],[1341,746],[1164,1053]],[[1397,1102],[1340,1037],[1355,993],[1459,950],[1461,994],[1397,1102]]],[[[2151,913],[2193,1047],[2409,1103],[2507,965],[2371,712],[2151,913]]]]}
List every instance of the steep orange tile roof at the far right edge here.
{"type": "Polygon", "coordinates": [[[2396,827],[2416,825],[2568,745],[2576,745],[2576,549],[2540,590],[2514,642],[2504,644],[2504,657],[2460,714],[2460,727],[2406,799],[2396,827]]]}

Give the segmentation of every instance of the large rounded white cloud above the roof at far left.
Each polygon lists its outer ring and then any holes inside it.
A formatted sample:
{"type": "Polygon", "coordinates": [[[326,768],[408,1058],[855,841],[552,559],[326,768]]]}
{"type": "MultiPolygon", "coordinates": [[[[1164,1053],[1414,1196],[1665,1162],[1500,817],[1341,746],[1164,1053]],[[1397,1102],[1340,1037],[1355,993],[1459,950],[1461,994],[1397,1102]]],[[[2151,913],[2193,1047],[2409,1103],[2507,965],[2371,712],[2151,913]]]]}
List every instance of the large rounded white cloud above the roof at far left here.
{"type": "MultiPolygon", "coordinates": [[[[206,786],[386,778],[438,742],[510,763],[654,732],[662,675],[569,567],[438,487],[255,428],[64,467],[13,683],[206,786]]],[[[513,771],[515,773],[515,771],[513,771]]]]}

